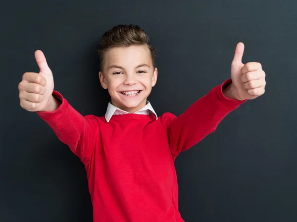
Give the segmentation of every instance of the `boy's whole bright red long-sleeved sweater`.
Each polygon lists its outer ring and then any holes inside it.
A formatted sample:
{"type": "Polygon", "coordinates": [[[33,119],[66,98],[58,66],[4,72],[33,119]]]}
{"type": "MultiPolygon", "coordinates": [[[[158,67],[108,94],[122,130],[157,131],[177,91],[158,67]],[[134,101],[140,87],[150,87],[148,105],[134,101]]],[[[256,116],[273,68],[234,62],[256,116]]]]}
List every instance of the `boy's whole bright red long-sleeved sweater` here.
{"type": "Polygon", "coordinates": [[[94,222],[184,222],[178,211],[174,160],[215,131],[245,101],[214,87],[179,117],[164,113],[82,116],[62,100],[56,111],[38,112],[84,163],[94,222]]]}

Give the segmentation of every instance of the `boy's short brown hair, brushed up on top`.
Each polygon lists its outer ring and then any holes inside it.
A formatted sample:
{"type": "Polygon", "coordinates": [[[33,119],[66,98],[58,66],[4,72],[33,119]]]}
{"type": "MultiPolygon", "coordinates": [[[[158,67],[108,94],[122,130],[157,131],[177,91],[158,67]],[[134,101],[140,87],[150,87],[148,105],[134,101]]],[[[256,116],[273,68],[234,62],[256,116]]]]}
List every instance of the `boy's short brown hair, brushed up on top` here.
{"type": "Polygon", "coordinates": [[[128,47],[131,45],[147,46],[150,51],[153,68],[155,68],[156,50],[149,44],[148,34],[138,25],[120,24],[105,32],[101,37],[100,48],[98,50],[100,56],[100,70],[103,71],[104,54],[109,48],[116,46],[128,47]]]}

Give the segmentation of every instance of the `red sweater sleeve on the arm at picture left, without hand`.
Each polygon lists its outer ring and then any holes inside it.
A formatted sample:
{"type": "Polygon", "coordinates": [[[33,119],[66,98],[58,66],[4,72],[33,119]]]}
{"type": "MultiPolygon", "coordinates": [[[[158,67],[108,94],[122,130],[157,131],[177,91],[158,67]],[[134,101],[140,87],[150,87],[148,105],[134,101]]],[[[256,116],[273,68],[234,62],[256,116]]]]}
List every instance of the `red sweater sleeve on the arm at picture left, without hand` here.
{"type": "Polygon", "coordinates": [[[62,103],[55,111],[37,112],[53,129],[58,139],[68,145],[84,164],[87,164],[99,136],[99,124],[94,115],[82,116],[57,92],[52,95],[62,103]]]}

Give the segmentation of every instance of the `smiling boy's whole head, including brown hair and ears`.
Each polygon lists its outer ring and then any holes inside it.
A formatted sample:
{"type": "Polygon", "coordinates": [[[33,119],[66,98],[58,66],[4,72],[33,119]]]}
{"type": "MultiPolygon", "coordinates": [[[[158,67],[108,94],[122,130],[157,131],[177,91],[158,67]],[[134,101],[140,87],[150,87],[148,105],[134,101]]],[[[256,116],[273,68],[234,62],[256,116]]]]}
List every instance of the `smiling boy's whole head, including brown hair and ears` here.
{"type": "Polygon", "coordinates": [[[99,79],[114,106],[133,113],[146,105],[157,80],[155,49],[137,25],[117,25],[100,41],[99,79]]]}

